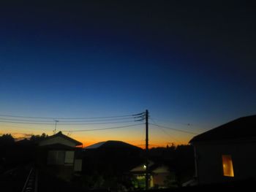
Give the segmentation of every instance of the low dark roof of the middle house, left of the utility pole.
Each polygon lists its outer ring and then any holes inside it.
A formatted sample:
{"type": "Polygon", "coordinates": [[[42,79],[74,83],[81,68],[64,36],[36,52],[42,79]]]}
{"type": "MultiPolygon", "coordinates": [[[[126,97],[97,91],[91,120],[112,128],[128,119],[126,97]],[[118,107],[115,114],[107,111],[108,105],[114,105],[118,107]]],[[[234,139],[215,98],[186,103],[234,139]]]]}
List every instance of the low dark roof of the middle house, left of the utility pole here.
{"type": "Polygon", "coordinates": [[[85,149],[105,149],[105,148],[134,148],[134,149],[141,149],[140,147],[136,147],[135,145],[130,145],[127,142],[121,141],[105,141],[105,142],[97,142],[94,145],[89,145],[85,147],[85,149]]]}

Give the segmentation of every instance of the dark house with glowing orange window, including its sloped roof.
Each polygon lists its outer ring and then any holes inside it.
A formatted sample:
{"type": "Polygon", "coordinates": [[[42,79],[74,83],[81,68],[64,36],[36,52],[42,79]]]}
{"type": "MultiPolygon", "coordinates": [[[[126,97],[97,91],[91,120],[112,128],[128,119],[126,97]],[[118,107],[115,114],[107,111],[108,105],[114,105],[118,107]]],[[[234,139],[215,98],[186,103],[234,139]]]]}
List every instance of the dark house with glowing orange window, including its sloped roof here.
{"type": "Polygon", "coordinates": [[[190,143],[199,184],[256,179],[256,115],[213,128],[190,143]]]}

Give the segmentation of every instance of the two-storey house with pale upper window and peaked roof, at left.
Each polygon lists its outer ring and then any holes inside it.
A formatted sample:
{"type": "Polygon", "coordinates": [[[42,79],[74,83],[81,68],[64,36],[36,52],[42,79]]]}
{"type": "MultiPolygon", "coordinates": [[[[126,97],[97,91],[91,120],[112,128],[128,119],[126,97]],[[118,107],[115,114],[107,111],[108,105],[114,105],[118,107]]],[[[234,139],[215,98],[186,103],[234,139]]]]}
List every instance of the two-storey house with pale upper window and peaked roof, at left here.
{"type": "Polygon", "coordinates": [[[59,131],[39,141],[37,163],[48,172],[69,180],[82,170],[82,143],[59,131]]]}

